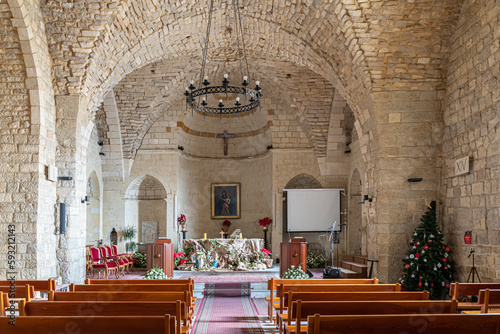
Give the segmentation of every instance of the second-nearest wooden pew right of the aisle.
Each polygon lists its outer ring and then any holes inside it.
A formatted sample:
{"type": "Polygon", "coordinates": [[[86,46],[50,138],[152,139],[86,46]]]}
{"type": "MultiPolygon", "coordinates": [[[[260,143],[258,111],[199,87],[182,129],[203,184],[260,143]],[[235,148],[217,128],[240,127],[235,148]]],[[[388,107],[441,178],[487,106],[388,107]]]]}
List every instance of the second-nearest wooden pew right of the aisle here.
{"type": "Polygon", "coordinates": [[[301,326],[308,316],[358,315],[358,314],[453,314],[457,313],[457,301],[301,301],[292,302],[286,333],[306,333],[307,326],[301,326]],[[295,321],[295,325],[291,322],[295,321]]]}

